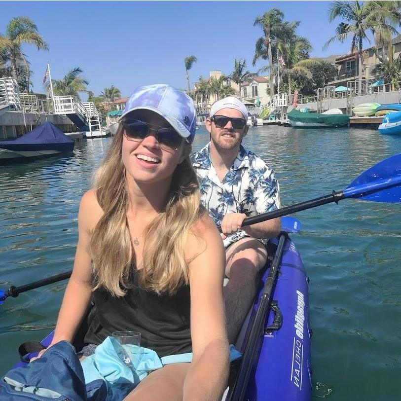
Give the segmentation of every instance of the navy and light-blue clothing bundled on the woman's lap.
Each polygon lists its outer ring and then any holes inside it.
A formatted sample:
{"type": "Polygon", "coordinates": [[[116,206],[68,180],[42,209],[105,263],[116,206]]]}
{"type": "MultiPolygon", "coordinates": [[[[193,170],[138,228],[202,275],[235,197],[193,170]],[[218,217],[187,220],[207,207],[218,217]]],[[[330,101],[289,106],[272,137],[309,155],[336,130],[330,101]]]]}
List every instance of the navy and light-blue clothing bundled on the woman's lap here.
{"type": "MultiPolygon", "coordinates": [[[[240,357],[231,346],[230,360],[240,357]]],[[[192,353],[159,358],[107,337],[80,362],[73,346],[60,341],[36,361],[9,370],[0,380],[0,401],[121,401],[149,372],[191,360],[192,353]]]]}

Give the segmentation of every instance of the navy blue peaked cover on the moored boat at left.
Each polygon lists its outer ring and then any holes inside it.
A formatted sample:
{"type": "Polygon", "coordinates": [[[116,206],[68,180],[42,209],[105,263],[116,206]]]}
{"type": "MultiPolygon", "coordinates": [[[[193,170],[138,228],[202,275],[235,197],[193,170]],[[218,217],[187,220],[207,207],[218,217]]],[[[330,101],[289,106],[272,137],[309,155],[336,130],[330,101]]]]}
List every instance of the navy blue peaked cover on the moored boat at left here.
{"type": "Polygon", "coordinates": [[[13,141],[0,141],[0,148],[29,151],[29,150],[57,150],[60,152],[71,152],[74,141],[51,122],[39,125],[28,134],[13,141]]]}

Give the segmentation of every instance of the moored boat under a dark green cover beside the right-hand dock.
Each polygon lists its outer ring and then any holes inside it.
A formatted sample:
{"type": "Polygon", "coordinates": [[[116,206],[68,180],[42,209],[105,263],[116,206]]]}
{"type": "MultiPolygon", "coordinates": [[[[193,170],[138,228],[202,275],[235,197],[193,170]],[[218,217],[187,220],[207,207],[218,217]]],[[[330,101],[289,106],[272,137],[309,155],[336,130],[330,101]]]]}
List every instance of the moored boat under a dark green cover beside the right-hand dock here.
{"type": "Polygon", "coordinates": [[[288,113],[288,119],[293,127],[300,128],[337,128],[348,125],[350,117],[346,114],[323,114],[301,112],[292,109],[288,113]]]}

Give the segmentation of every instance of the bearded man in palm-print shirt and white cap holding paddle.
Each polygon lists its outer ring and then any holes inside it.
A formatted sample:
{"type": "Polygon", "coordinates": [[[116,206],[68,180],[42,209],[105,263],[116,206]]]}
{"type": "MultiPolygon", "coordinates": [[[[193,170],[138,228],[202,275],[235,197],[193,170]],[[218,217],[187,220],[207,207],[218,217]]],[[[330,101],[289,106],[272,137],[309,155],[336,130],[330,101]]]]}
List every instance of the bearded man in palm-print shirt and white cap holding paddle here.
{"type": "Polygon", "coordinates": [[[257,290],[267,260],[265,244],[279,234],[280,219],[241,228],[248,216],[280,208],[279,184],[261,158],[242,145],[248,110],[233,96],[215,102],[206,120],[211,141],[192,155],[201,200],[221,226],[226,250],[224,287],[227,331],[234,343],[257,290]]]}

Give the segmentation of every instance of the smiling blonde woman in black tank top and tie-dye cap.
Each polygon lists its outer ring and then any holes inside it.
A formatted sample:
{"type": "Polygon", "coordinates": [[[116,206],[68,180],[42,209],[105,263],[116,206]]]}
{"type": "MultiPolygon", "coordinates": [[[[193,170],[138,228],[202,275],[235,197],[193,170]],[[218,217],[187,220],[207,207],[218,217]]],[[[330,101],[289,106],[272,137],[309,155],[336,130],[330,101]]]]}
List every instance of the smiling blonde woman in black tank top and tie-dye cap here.
{"type": "Polygon", "coordinates": [[[218,400],[228,374],[219,233],[200,206],[188,155],[190,98],[168,85],[137,88],[81,200],[73,273],[52,345],[73,341],[93,296],[83,355],[113,331],[142,333],[159,357],[192,362],[150,373],[125,400],[218,400]]]}

